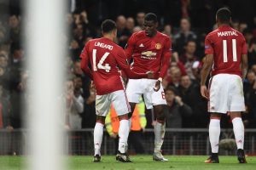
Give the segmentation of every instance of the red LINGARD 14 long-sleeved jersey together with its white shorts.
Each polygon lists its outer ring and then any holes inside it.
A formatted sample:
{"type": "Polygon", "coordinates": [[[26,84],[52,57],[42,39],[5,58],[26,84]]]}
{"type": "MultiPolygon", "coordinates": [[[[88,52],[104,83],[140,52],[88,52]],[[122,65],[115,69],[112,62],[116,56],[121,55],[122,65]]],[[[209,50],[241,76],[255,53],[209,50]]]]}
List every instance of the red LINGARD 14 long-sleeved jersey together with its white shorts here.
{"type": "MultiPolygon", "coordinates": [[[[87,42],[80,57],[81,68],[96,87],[96,115],[107,116],[111,103],[119,116],[131,112],[119,73],[119,68],[130,71],[125,51],[113,41],[102,37],[87,42]]],[[[130,74],[137,77],[132,72],[130,74]]]]}

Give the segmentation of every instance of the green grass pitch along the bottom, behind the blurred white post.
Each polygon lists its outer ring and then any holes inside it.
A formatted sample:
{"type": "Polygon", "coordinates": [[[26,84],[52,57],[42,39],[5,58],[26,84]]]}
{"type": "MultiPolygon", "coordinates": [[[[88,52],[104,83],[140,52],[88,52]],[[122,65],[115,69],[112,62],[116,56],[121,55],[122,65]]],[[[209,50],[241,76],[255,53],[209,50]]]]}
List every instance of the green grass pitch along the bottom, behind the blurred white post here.
{"type": "MultiPolygon", "coordinates": [[[[203,161],[207,156],[166,156],[168,162],[152,161],[152,156],[131,156],[133,163],[120,163],[115,161],[114,156],[102,156],[102,162],[92,162],[92,156],[68,156],[67,170],[102,169],[102,170],[255,170],[256,157],[247,157],[247,164],[239,164],[236,156],[219,156],[219,164],[206,164],[203,161]]],[[[25,170],[26,158],[22,156],[0,156],[0,169],[2,170],[25,170]]]]}

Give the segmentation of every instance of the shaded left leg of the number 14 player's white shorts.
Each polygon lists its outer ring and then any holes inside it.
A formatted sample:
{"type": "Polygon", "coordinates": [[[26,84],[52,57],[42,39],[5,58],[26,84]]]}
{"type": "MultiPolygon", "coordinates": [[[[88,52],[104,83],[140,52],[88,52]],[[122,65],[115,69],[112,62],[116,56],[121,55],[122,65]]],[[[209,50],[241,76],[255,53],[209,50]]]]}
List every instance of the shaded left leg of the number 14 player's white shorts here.
{"type": "Polygon", "coordinates": [[[110,109],[110,94],[96,95],[96,116],[107,116],[110,109]]]}

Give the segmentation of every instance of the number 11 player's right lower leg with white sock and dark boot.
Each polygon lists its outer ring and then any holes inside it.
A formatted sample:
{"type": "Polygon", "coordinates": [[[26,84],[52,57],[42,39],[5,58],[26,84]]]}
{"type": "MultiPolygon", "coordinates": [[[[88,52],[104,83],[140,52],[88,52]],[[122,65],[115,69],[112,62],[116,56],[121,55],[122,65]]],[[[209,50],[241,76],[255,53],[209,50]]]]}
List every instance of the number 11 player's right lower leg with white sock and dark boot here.
{"type": "Polygon", "coordinates": [[[246,163],[246,158],[243,150],[244,145],[244,126],[241,120],[241,112],[240,111],[232,111],[230,112],[230,117],[233,123],[233,131],[236,139],[237,146],[237,157],[240,163],[246,163]]]}

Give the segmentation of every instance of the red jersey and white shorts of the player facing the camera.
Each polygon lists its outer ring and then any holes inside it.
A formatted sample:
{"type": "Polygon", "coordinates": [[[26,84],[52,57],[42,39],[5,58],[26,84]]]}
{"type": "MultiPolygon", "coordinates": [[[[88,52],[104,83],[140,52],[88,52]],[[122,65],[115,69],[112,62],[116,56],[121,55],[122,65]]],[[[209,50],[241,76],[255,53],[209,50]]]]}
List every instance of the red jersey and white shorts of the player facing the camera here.
{"type": "MultiPolygon", "coordinates": [[[[164,78],[170,65],[170,37],[159,31],[154,37],[146,36],[145,31],[133,33],[127,43],[125,54],[128,59],[133,59],[132,71],[138,73],[154,71],[159,73],[159,77],[164,78]]],[[[126,89],[129,102],[139,103],[139,97],[143,95],[148,109],[153,105],[166,105],[164,89],[160,86],[160,90],[155,92],[153,89],[155,82],[156,80],[147,78],[130,79],[126,89]]]]}

